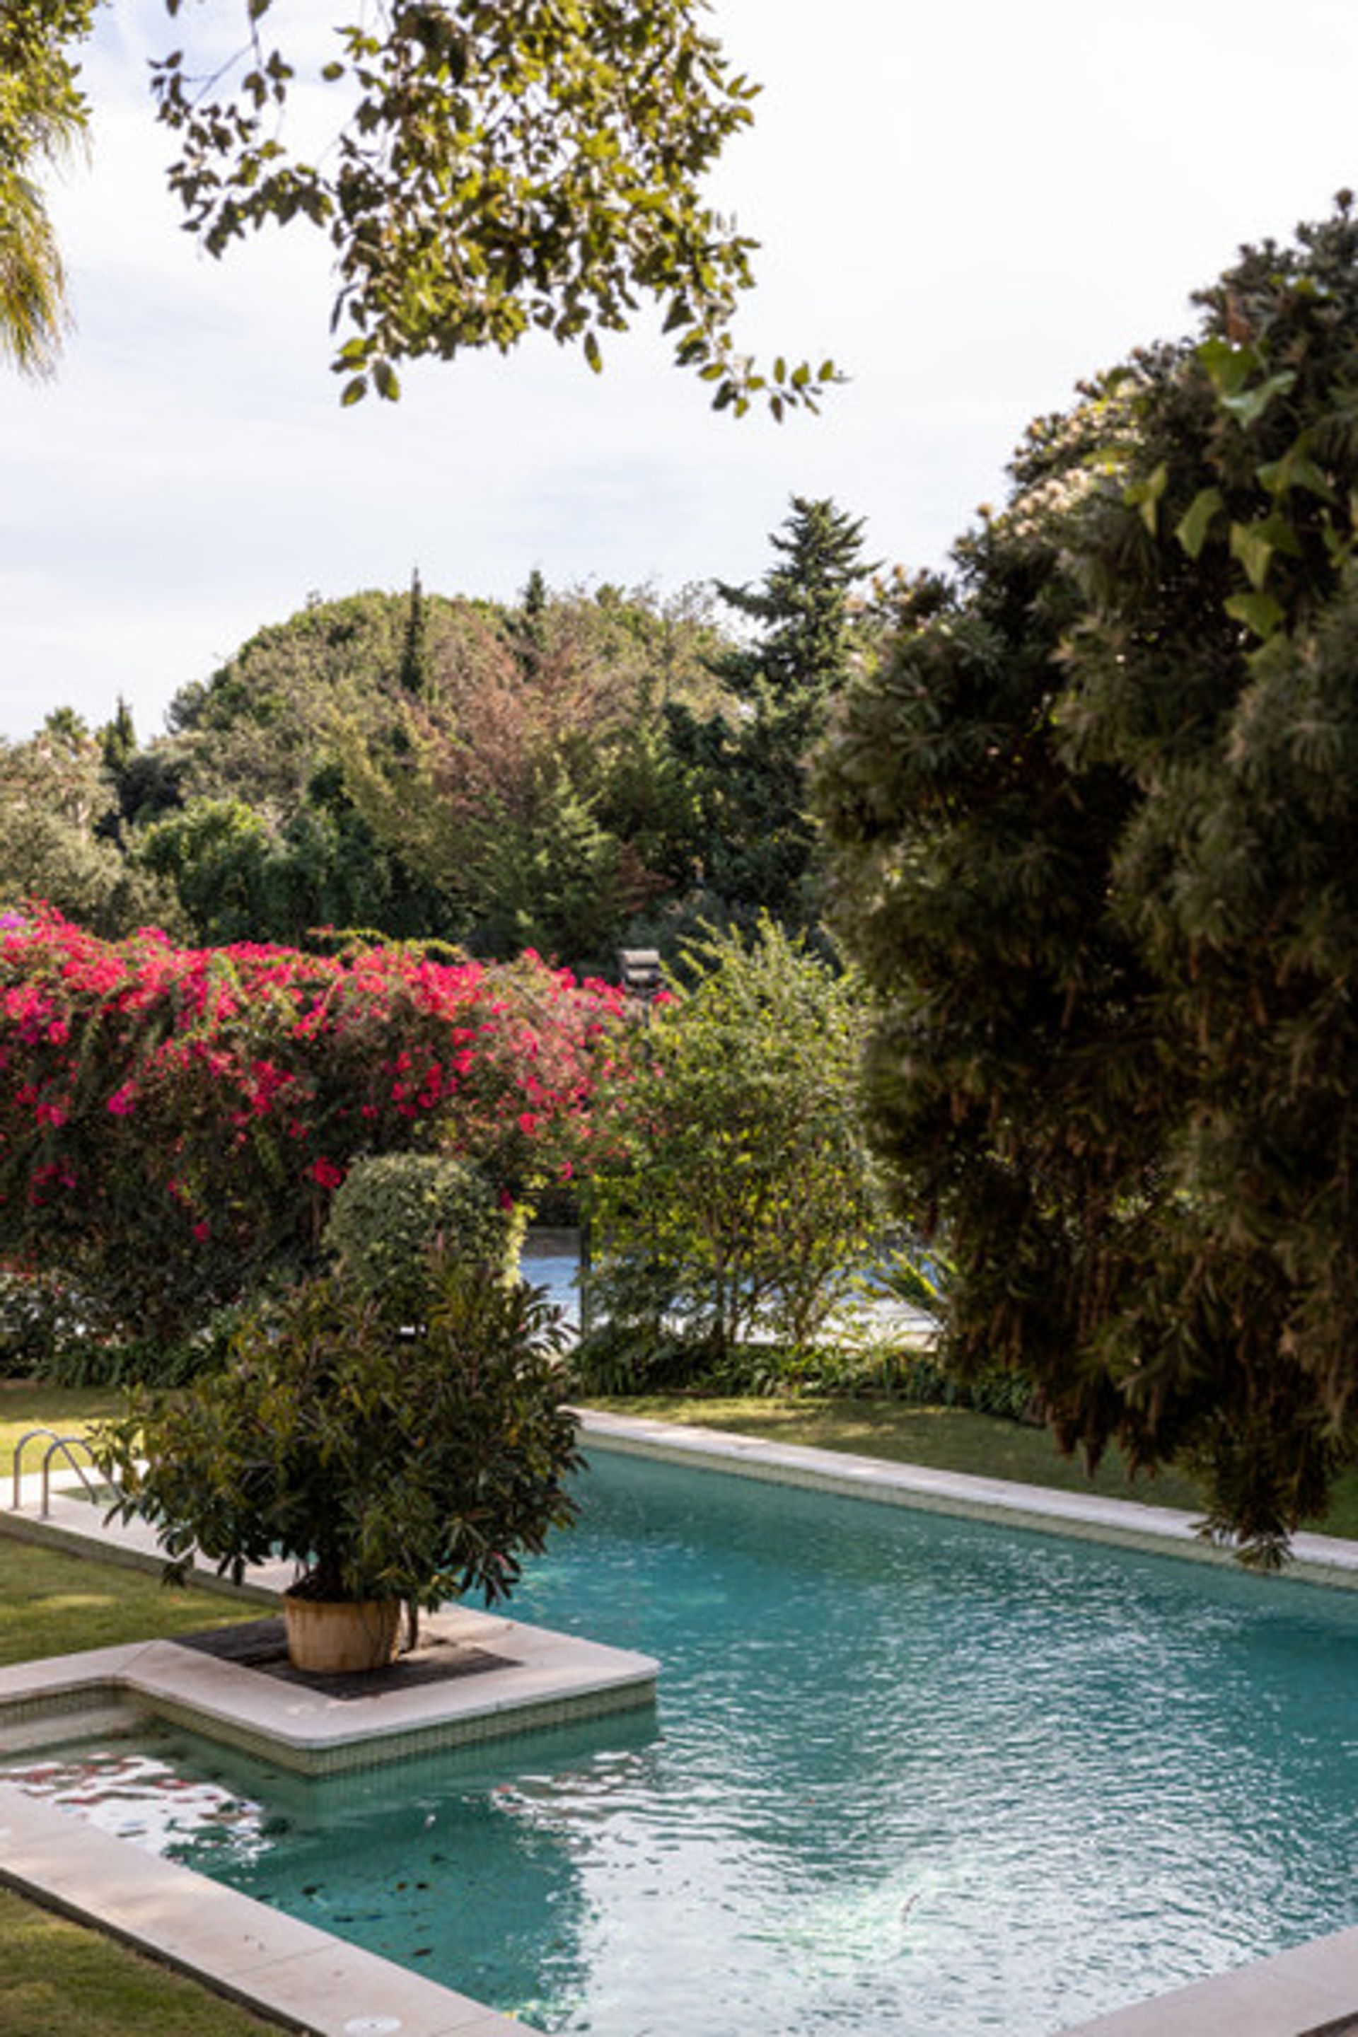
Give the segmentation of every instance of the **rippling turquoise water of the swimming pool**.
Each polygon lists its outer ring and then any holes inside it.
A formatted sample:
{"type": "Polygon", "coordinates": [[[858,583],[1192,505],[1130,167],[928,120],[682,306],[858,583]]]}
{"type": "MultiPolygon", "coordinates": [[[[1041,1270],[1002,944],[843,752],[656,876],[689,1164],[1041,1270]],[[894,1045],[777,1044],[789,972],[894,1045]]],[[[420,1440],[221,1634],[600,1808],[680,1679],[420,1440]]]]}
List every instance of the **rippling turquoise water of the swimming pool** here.
{"type": "Polygon", "coordinates": [[[1358,1917],[1358,1599],[609,1452],[582,1497],[517,1605],[656,1654],[654,1717],[33,1786],[595,2037],[1046,2037],[1358,1917]]]}

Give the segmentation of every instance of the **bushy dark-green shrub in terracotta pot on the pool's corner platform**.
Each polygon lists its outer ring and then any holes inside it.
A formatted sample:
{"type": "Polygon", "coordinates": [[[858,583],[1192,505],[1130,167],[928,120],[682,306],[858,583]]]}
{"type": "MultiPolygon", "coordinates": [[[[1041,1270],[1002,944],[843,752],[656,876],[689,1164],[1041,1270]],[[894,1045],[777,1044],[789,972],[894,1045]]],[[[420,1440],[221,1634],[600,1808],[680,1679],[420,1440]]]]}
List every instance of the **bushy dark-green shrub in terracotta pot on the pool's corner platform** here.
{"type": "Polygon", "coordinates": [[[419,1607],[507,1597],[521,1554],[572,1520],[560,1346],[558,1312],[503,1265],[444,1247],[383,1296],[342,1263],[246,1318],[220,1375],[102,1428],[114,1513],[155,1524],[171,1573],[195,1550],[236,1581],[291,1558],[293,1662],[338,1666],[307,1630],[340,1605],[352,1666],[381,1666],[401,1607],[413,1644],[419,1607]]]}

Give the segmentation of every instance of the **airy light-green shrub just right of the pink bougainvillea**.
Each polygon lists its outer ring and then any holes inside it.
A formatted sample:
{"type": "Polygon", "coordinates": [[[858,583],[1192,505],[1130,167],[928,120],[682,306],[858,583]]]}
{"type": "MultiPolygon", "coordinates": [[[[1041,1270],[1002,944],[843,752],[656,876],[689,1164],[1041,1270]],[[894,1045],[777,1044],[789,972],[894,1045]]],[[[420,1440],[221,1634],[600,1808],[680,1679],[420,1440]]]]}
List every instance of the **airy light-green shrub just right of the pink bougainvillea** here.
{"type": "Polygon", "coordinates": [[[859,986],[768,919],[690,943],[686,974],[590,1183],[588,1298],[652,1367],[672,1334],[713,1363],[763,1336],[810,1351],[884,1222],[859,986]]]}

